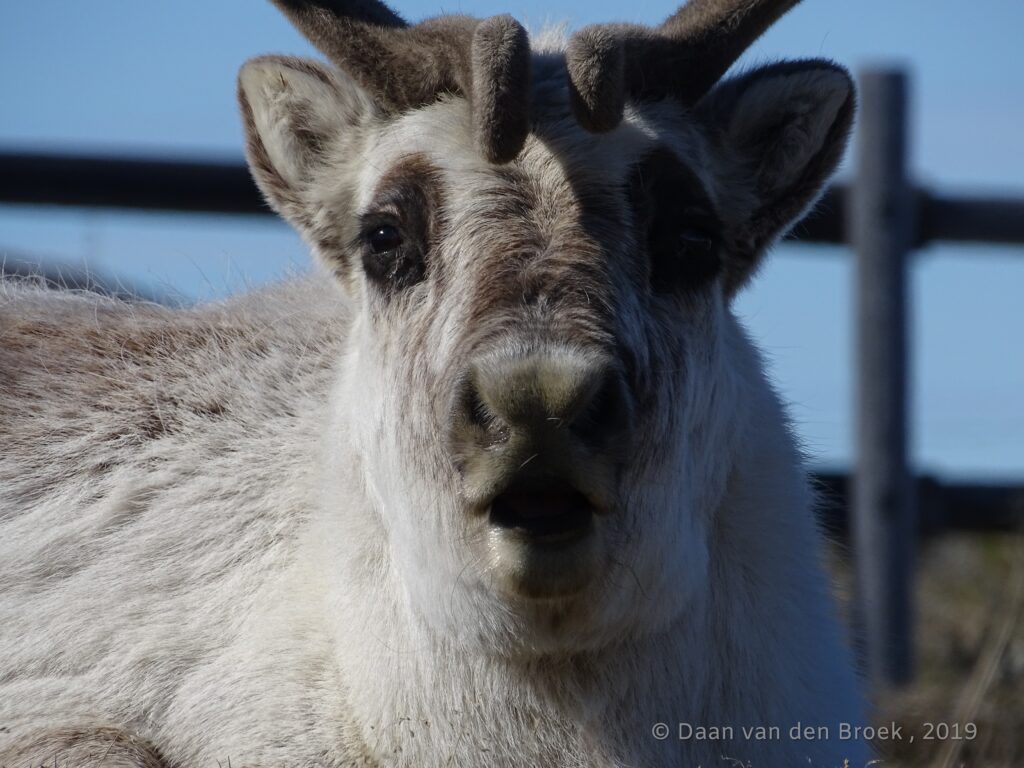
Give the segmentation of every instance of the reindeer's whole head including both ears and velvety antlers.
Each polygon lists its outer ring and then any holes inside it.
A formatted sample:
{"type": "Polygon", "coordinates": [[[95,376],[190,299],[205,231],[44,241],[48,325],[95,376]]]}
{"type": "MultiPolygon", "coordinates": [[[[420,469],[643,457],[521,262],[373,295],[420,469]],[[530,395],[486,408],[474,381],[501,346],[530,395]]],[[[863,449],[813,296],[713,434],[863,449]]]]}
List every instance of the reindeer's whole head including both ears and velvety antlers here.
{"type": "Polygon", "coordinates": [[[828,61],[719,82],[795,2],[531,52],[507,16],[275,0],[337,69],[246,65],[249,162],[353,306],[332,439],[430,625],[580,648],[705,589],[746,428],[730,301],[853,113],[828,61]]]}

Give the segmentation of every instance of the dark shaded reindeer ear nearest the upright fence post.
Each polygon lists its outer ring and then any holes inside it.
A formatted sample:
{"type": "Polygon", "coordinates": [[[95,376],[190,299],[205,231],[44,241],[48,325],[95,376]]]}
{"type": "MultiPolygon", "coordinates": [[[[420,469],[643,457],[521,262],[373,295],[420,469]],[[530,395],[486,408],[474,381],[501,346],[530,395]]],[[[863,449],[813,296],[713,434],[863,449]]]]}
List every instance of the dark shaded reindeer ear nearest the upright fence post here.
{"type": "Polygon", "coordinates": [[[843,157],[854,103],[849,73],[812,59],[727,80],[697,104],[727,179],[720,196],[728,295],[821,193],[843,157]]]}

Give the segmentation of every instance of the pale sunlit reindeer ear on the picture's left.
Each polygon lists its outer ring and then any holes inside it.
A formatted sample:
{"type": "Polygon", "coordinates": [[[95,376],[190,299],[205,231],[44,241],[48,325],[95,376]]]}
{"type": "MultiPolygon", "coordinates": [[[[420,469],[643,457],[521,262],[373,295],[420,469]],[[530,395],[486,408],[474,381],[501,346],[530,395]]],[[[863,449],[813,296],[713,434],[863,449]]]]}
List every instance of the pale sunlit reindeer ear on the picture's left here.
{"type": "Polygon", "coordinates": [[[317,180],[376,113],[346,75],[316,61],[260,56],[239,74],[246,156],[270,206],[308,236],[317,180]]]}

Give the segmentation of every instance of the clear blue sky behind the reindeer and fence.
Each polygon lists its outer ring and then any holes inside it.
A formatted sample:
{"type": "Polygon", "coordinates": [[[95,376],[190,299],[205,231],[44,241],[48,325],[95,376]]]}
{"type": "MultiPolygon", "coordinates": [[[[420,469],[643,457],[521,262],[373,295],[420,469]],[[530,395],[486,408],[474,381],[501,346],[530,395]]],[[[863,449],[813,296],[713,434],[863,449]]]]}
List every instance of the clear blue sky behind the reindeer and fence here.
{"type": "MultiPolygon", "coordinates": [[[[669,4],[480,0],[396,6],[407,18],[512,12],[527,26],[654,23],[669,4]]],[[[911,171],[958,191],[1024,196],[1020,0],[804,0],[743,57],[827,56],[911,77],[911,171]]],[[[234,77],[248,57],[312,54],[265,0],[34,0],[0,5],[0,147],[238,158],[234,77]]],[[[845,173],[845,170],[841,173],[845,173]]],[[[284,224],[0,206],[0,255],[30,254],[212,298],[307,256],[284,224]]],[[[776,250],[738,308],[817,463],[852,455],[851,265],[843,249],[776,250]]],[[[933,247],[912,275],[916,466],[1024,476],[1024,249],[933,247]]]]}

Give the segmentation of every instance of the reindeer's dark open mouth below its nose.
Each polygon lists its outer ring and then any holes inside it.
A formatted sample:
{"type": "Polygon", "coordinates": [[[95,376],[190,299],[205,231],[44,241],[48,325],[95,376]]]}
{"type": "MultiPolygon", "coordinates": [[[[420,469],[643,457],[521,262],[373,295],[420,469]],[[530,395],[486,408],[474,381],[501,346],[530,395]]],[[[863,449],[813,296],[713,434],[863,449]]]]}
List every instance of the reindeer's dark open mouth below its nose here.
{"type": "Polygon", "coordinates": [[[593,525],[594,506],[567,483],[513,486],[490,503],[490,523],[531,542],[560,544],[585,536],[593,525]]]}

